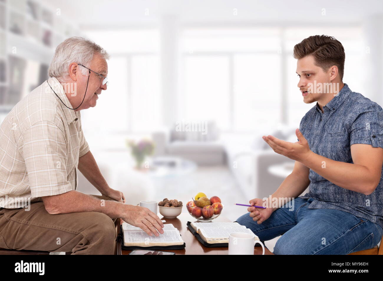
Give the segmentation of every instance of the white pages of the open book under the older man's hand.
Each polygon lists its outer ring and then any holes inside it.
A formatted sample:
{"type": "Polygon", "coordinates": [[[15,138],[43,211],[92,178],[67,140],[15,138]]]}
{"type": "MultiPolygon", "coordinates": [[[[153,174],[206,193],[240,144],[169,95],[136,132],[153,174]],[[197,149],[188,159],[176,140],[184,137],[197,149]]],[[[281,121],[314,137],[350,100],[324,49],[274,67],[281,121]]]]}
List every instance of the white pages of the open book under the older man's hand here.
{"type": "Polygon", "coordinates": [[[132,226],[131,224],[122,223],[124,233],[125,246],[139,246],[139,247],[152,247],[152,246],[170,246],[170,245],[183,245],[180,232],[173,224],[164,224],[164,233],[159,236],[149,236],[141,228],[132,226]]]}

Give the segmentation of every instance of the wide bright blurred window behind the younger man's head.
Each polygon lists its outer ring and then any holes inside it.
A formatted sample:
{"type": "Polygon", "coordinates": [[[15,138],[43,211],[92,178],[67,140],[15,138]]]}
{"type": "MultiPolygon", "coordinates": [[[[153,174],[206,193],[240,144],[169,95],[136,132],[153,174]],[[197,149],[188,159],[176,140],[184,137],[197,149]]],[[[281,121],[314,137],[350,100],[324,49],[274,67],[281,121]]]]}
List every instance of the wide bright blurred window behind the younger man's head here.
{"type": "Polygon", "coordinates": [[[185,28],[180,37],[178,118],[214,119],[221,129],[236,132],[278,124],[299,127],[315,103],[305,104],[297,87],[293,47],[315,34],[342,42],[343,81],[362,91],[365,50],[360,27],[185,28]]]}

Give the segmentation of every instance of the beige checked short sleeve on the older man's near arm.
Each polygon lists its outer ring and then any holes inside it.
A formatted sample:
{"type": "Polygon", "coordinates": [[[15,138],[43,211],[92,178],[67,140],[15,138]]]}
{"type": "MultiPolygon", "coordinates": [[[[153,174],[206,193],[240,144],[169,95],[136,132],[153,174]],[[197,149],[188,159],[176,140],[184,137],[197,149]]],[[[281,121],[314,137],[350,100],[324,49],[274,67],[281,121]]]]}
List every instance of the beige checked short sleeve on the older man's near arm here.
{"type": "Polygon", "coordinates": [[[54,123],[41,121],[32,125],[21,135],[19,147],[32,198],[73,190],[67,180],[65,135],[54,123]]]}

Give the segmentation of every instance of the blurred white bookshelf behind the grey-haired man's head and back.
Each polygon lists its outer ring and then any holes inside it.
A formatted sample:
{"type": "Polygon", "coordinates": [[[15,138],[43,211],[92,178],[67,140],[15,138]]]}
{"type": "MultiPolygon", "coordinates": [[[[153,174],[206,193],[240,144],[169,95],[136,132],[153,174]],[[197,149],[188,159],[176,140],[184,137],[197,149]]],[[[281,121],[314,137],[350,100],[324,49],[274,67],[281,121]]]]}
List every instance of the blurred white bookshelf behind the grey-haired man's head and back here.
{"type": "MultiPolygon", "coordinates": [[[[56,46],[83,36],[54,6],[0,0],[0,114],[43,83],[56,46]]],[[[2,116],[0,116],[2,122],[2,116]]]]}

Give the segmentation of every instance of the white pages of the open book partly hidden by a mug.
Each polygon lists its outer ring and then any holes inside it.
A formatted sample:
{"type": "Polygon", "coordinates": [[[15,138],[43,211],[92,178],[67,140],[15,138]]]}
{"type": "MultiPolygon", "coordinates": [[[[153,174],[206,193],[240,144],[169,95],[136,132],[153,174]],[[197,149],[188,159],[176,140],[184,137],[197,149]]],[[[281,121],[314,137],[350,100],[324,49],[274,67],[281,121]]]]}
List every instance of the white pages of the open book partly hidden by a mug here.
{"type": "Polygon", "coordinates": [[[239,223],[190,223],[191,227],[200,235],[206,243],[229,243],[229,234],[233,232],[244,232],[259,240],[249,228],[239,223]]]}

